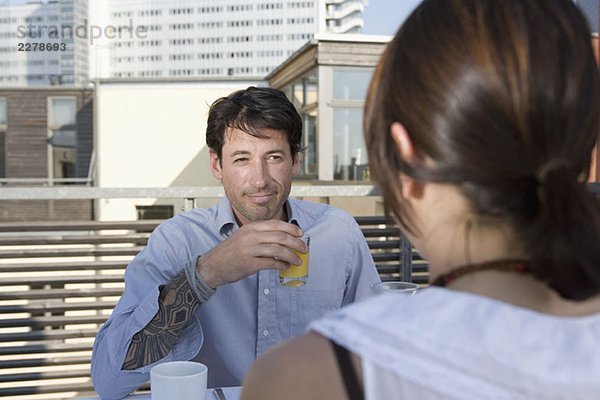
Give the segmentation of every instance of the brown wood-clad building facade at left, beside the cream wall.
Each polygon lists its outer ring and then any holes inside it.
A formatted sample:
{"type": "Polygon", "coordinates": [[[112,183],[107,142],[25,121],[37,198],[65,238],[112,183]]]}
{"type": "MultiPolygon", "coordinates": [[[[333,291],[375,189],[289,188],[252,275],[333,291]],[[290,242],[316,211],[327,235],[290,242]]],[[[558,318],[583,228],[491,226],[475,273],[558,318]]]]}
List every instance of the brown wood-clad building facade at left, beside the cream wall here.
{"type": "MultiPolygon", "coordinates": [[[[0,88],[0,186],[92,182],[93,91],[0,88]]],[[[91,200],[2,200],[0,220],[89,220],[91,200]]]]}

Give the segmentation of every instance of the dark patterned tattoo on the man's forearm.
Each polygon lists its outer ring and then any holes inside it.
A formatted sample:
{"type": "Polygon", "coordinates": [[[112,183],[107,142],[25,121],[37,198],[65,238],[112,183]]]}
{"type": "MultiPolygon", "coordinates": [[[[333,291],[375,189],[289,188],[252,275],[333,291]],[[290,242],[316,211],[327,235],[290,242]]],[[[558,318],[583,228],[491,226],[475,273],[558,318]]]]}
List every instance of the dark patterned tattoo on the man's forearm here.
{"type": "Polygon", "coordinates": [[[158,312],[133,336],[121,369],[136,369],[166,356],[199,305],[185,271],[181,271],[161,289],[158,312]]]}

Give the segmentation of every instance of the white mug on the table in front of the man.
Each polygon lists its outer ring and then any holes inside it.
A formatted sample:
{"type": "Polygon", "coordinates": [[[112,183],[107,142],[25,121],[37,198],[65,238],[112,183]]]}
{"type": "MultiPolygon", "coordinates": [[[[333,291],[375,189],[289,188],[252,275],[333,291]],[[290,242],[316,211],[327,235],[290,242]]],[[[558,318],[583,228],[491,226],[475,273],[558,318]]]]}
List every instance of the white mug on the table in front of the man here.
{"type": "Polygon", "coordinates": [[[208,367],[194,361],[172,361],[150,370],[152,400],[206,400],[208,367]]]}

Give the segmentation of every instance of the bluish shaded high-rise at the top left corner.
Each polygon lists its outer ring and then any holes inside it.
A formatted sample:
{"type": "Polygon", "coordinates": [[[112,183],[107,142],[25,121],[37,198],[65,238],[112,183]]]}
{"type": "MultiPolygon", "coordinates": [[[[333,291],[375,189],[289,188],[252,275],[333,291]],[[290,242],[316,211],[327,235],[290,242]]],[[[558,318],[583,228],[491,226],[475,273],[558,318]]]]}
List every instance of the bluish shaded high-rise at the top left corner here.
{"type": "Polygon", "coordinates": [[[0,2],[0,86],[85,85],[87,0],[0,2]]]}

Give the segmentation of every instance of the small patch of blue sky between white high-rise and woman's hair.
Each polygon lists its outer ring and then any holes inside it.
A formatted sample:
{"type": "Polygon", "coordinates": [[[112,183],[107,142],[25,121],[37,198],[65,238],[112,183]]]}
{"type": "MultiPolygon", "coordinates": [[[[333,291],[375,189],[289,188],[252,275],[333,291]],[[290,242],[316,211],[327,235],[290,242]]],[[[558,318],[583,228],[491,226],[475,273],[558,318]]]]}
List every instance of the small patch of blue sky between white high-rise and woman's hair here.
{"type": "Polygon", "coordinates": [[[393,35],[421,0],[368,0],[363,18],[363,33],[393,35]]]}

